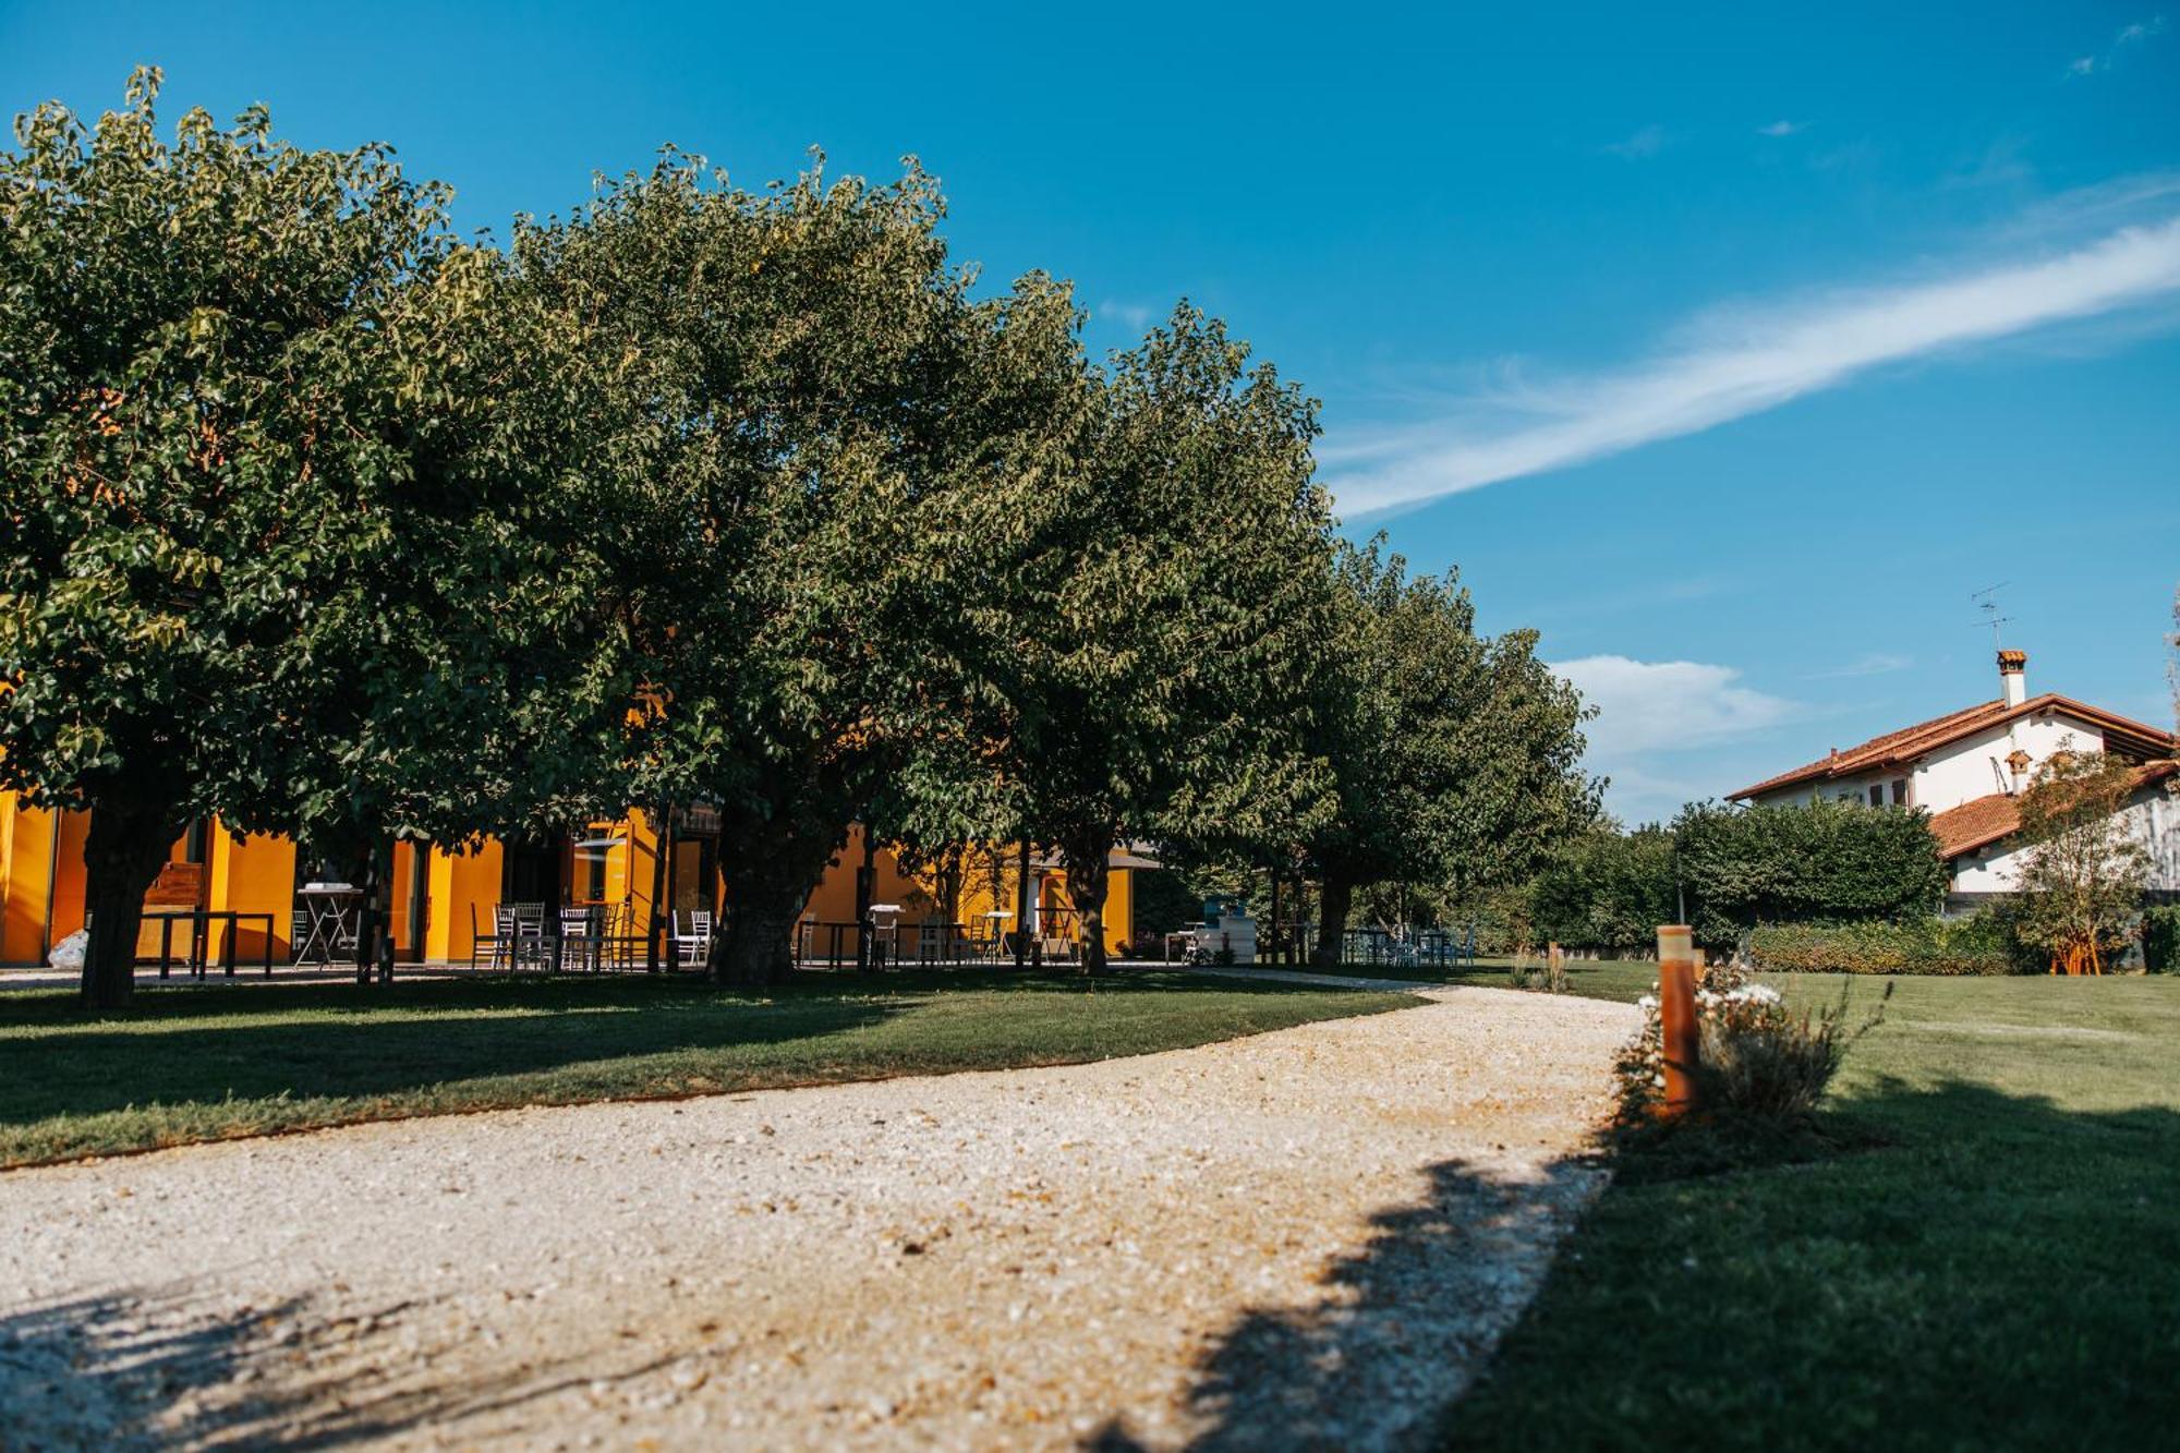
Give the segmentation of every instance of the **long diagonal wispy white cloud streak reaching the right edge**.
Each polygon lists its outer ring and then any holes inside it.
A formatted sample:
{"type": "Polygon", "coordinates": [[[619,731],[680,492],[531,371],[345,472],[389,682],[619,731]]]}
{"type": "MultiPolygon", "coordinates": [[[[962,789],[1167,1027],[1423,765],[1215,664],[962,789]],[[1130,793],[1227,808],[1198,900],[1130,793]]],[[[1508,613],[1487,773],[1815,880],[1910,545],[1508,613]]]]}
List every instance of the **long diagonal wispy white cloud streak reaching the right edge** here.
{"type": "MultiPolygon", "coordinates": [[[[2180,175],[2047,203],[2010,233],[2032,257],[1979,255],[1921,281],[1698,316],[1685,340],[1620,369],[1530,377],[1445,399],[1434,419],[1336,434],[1319,452],[1347,515],[1563,469],[1742,419],[1884,364],[2143,312],[2180,297],[2180,175]],[[2139,220],[2117,223],[2115,212],[2139,220]],[[2082,236],[2082,227],[2106,231],[2082,236]],[[2064,240],[2056,240],[2064,238],[2064,240]]],[[[2169,325],[2173,319],[2163,319],[2169,325]]]]}

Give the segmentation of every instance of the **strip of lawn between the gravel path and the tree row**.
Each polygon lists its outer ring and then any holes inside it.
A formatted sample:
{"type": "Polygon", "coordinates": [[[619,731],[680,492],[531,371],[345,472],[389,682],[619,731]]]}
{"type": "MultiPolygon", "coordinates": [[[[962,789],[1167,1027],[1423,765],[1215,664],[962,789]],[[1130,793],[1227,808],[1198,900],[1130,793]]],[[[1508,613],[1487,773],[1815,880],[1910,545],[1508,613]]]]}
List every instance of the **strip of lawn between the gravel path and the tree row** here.
{"type": "Polygon", "coordinates": [[[164,988],[122,1017],[0,993],[0,1167],[517,1104],[1068,1065],[1179,1049],[1406,995],[1188,973],[414,980],[164,988]]]}

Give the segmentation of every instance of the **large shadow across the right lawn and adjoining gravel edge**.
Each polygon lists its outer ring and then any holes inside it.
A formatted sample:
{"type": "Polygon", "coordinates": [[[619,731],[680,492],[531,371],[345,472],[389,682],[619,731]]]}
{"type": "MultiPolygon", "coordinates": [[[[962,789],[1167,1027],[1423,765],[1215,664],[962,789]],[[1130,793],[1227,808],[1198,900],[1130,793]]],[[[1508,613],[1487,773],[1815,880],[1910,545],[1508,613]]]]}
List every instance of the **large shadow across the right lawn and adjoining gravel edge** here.
{"type": "MultiPolygon", "coordinates": [[[[1737,1150],[1755,1163],[1622,1158],[1526,1311],[1554,1196],[1434,1167],[1426,1204],[1376,1217],[1321,1302],[1249,1311],[1216,1337],[1192,1392],[1214,1422],[1190,1446],[2119,1449],[2171,1436],[2180,1113],[1879,1082],[1812,1137],[1737,1150]],[[1452,1403],[1463,1364],[1482,1377],[1452,1403]]],[[[1589,1174],[1552,1172],[1561,1189],[1589,1174]]],[[[1116,1416],[1092,1446],[1140,1444],[1116,1416]]]]}

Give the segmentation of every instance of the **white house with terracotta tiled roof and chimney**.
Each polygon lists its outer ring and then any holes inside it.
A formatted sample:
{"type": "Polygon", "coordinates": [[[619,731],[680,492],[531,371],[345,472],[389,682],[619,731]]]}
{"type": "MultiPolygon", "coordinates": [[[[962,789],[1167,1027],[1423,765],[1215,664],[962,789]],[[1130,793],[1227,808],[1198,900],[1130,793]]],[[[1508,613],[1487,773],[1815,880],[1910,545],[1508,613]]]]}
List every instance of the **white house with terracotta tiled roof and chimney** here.
{"type": "Polygon", "coordinates": [[[1951,901],[1966,905],[2019,881],[2019,796],[2054,753],[2117,753],[2139,764],[2126,818],[2149,849],[2149,890],[2180,897],[2180,801],[2173,777],[2180,740],[2169,731],[2082,705],[2027,694],[2027,652],[1999,652],[1997,700],[1916,722],[1862,746],[1831,748],[1822,761],[1781,772],[1733,794],[1744,803],[1809,803],[1820,796],[1873,807],[1929,812],[1951,873],[1951,901]]]}

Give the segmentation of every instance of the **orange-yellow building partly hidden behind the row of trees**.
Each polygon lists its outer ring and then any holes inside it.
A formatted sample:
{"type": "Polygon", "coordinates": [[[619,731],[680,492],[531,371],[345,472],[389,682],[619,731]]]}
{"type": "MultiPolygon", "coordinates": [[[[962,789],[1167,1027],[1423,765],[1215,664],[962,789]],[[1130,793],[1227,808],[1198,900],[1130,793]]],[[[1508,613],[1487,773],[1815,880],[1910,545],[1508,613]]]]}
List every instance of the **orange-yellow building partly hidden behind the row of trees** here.
{"type": "MultiPolygon", "coordinates": [[[[0,792],[0,966],[41,964],[55,942],[83,927],[85,829],[87,814],[55,812],[0,792]]],[[[469,964],[475,934],[491,932],[499,903],[610,908],[621,925],[617,932],[641,938],[654,923],[654,903],[661,927],[669,925],[671,914],[717,908],[717,814],[685,807],[674,814],[669,833],[661,833],[643,812],[630,812],[617,820],[589,822],[552,842],[488,838],[462,853],[399,842],[388,864],[386,899],[395,956],[412,964],[469,964]]],[[[244,838],[218,822],[201,822],[172,844],[170,860],[170,873],[161,875],[161,897],[168,901],[150,905],[153,910],[270,914],[270,945],[264,921],[244,918],[233,927],[233,942],[227,940],[229,929],[220,927],[209,951],[214,958],[233,953],[238,962],[251,964],[262,962],[270,947],[275,966],[290,960],[305,903],[296,890],[316,877],[307,864],[296,862],[292,842],[262,833],[244,838]]],[[[802,956],[855,956],[852,929],[835,925],[855,921],[855,873],[861,862],[861,829],[850,829],[848,844],[802,912],[802,956]]],[[[1151,864],[1127,853],[1114,855],[1105,899],[1110,953],[1118,953],[1131,936],[1131,870],[1140,866],[1151,864]]],[[[905,873],[885,846],[872,855],[872,901],[894,910],[879,918],[881,925],[894,925],[892,942],[898,953],[913,956],[918,942],[953,938],[937,929],[942,908],[931,875],[905,873]]],[[[1012,934],[1020,851],[1005,844],[977,846],[966,853],[961,879],[955,921],[966,934],[985,940],[1012,934]]],[[[1077,938],[1077,914],[1059,866],[1031,857],[1029,886],[1038,947],[1046,953],[1068,951],[1077,938]]],[[[179,947],[181,938],[174,942],[179,947]]],[[[155,925],[146,925],[137,949],[140,956],[157,956],[155,925]]],[[[661,947],[661,953],[669,949],[661,947]]],[[[641,949],[634,956],[641,958],[641,949]]]]}

